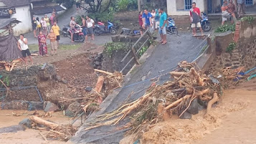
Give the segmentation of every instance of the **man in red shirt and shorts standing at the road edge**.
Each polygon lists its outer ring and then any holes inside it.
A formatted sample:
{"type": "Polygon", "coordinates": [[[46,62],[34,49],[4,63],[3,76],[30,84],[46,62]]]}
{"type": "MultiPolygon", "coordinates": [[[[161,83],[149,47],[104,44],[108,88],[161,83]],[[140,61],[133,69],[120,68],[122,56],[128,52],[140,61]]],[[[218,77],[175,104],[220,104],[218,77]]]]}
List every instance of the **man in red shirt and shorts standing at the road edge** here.
{"type": "Polygon", "coordinates": [[[203,34],[203,29],[201,27],[200,20],[202,19],[201,17],[201,12],[198,7],[196,7],[196,3],[192,3],[192,9],[190,9],[190,16],[191,16],[191,28],[193,29],[193,35],[196,36],[196,27],[200,28],[202,36],[203,34]]]}

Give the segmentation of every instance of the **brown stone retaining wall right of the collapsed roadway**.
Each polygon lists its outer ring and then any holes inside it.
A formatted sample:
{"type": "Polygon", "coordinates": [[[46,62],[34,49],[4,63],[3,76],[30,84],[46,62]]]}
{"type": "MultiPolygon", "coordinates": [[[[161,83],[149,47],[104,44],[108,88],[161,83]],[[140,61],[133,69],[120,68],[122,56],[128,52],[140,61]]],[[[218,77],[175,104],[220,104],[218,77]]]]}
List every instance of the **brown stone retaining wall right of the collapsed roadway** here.
{"type": "Polygon", "coordinates": [[[239,21],[234,33],[215,37],[209,45],[213,60],[207,71],[224,67],[251,69],[256,66],[256,23],[239,21]],[[237,41],[235,49],[232,52],[226,52],[228,45],[235,41],[237,41]]]}

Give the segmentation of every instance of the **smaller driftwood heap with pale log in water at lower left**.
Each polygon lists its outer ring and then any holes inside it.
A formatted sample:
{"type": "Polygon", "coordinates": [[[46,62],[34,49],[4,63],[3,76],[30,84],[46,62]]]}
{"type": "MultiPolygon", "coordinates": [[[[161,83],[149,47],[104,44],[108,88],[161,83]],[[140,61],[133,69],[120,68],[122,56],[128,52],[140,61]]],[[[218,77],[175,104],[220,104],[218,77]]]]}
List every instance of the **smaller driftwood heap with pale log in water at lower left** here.
{"type": "Polygon", "coordinates": [[[59,125],[57,123],[52,123],[47,120],[43,120],[42,118],[34,115],[30,116],[29,120],[32,121],[32,128],[34,129],[49,129],[47,135],[43,135],[42,133],[40,133],[40,135],[42,135],[42,137],[46,141],[48,141],[47,138],[67,141],[70,140],[70,138],[73,135],[75,135],[75,132],[77,131],[77,129],[73,128],[72,125],[59,125]],[[42,125],[44,125],[44,128],[42,128],[42,125]]]}

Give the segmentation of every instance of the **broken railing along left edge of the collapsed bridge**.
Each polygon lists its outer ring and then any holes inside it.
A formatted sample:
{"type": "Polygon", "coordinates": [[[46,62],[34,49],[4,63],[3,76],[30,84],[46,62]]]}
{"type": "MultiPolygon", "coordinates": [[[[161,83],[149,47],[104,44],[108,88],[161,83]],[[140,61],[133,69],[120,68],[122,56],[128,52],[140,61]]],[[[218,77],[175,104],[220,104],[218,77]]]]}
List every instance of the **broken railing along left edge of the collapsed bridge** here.
{"type": "Polygon", "coordinates": [[[121,60],[121,62],[124,62],[124,60],[128,57],[128,55],[132,52],[133,57],[127,62],[127,64],[125,64],[125,66],[123,67],[123,69],[120,72],[123,72],[123,70],[128,66],[128,64],[130,64],[133,59],[135,60],[136,64],[140,64],[140,62],[138,62],[138,52],[141,51],[141,49],[144,47],[144,45],[148,42],[148,40],[153,39],[153,36],[150,32],[149,29],[146,30],[146,32],[144,32],[142,34],[142,36],[137,40],[136,43],[133,44],[133,46],[131,47],[131,49],[127,52],[127,54],[125,55],[125,57],[123,57],[123,59],[121,60]],[[145,42],[143,42],[143,44],[141,45],[141,47],[139,47],[138,49],[136,49],[136,46],[141,42],[141,39],[143,39],[143,37],[148,37],[146,39],[145,42]]]}

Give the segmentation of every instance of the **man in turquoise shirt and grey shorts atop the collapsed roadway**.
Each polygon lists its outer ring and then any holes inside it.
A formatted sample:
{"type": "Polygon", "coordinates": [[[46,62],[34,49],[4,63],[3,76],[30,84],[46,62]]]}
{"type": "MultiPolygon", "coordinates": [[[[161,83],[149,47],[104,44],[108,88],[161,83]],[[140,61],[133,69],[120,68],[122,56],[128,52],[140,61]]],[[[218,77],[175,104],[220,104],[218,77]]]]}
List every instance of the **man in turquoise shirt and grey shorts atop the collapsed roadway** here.
{"type": "Polygon", "coordinates": [[[166,44],[167,39],[166,39],[166,27],[167,27],[167,14],[165,11],[163,11],[163,8],[158,10],[161,13],[160,16],[160,24],[159,24],[159,29],[158,32],[161,36],[161,43],[166,44]]]}

